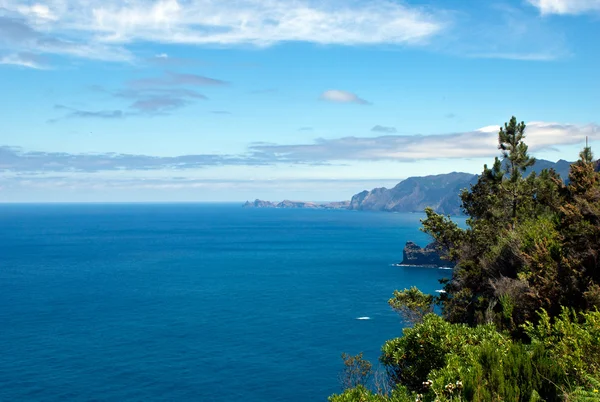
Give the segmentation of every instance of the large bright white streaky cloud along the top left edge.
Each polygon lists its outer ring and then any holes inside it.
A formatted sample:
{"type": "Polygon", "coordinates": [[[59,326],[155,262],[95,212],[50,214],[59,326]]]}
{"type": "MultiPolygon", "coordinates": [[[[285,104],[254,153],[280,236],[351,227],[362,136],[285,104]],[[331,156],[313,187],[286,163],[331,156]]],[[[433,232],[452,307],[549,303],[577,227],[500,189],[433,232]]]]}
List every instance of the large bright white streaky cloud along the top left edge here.
{"type": "Polygon", "coordinates": [[[106,44],[418,44],[445,23],[431,10],[392,0],[0,0],[44,32],[106,44]]]}

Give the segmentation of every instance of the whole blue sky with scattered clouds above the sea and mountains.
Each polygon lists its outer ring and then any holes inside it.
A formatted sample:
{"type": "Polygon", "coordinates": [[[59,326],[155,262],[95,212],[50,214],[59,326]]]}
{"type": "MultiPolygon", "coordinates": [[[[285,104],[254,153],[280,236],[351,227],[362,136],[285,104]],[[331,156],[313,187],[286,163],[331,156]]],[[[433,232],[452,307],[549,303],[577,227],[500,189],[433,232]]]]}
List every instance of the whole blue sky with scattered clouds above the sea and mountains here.
{"type": "Polygon", "coordinates": [[[0,202],[347,200],[600,155],[600,0],[0,0],[0,202]]]}

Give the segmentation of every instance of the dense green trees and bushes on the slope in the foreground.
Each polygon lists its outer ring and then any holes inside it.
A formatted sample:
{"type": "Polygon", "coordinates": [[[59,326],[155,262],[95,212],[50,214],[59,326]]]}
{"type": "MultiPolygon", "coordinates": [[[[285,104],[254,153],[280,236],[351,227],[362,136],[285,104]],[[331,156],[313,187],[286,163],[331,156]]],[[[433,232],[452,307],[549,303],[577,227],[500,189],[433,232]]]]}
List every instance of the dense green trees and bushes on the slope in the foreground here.
{"type": "Polygon", "coordinates": [[[452,278],[438,297],[394,292],[412,327],[383,346],[383,380],[345,355],[331,402],[600,401],[600,173],[586,147],[566,182],[526,175],[525,128],[500,128],[501,158],[461,193],[466,228],[425,211],[452,278]]]}

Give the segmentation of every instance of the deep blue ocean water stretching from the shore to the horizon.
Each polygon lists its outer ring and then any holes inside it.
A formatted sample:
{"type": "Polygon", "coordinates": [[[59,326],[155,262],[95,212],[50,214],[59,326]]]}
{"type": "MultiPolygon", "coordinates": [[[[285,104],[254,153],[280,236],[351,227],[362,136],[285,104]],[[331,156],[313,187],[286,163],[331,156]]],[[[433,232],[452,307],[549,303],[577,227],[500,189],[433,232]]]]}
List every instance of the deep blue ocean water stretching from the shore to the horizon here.
{"type": "Polygon", "coordinates": [[[420,214],[0,206],[0,400],[321,401],[375,360],[420,214]],[[358,320],[370,317],[369,320],[358,320]]]}

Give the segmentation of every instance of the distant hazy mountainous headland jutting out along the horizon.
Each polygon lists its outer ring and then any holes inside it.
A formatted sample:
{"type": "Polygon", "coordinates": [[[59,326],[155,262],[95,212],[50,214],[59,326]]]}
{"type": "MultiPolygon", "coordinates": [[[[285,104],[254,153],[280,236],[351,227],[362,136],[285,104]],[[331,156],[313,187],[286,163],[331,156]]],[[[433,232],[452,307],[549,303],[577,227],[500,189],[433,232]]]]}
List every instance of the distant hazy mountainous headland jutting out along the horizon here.
{"type": "MultiPolygon", "coordinates": [[[[543,169],[554,169],[563,180],[569,176],[571,162],[550,162],[538,159],[530,171],[539,173],[543,169]]],[[[452,172],[431,176],[409,177],[393,188],[375,188],[352,196],[350,201],[315,203],[305,201],[271,202],[247,201],[245,208],[309,208],[349,209],[355,211],[423,212],[426,207],[439,214],[461,215],[461,190],[470,188],[479,176],[471,173],[452,172]]]]}

